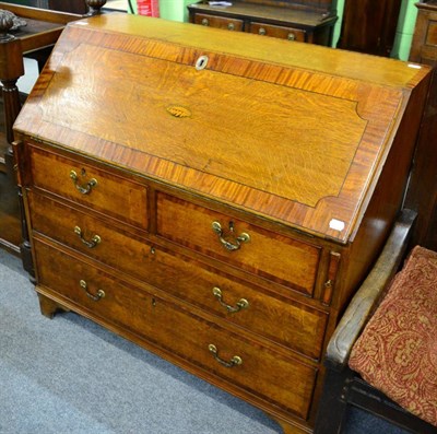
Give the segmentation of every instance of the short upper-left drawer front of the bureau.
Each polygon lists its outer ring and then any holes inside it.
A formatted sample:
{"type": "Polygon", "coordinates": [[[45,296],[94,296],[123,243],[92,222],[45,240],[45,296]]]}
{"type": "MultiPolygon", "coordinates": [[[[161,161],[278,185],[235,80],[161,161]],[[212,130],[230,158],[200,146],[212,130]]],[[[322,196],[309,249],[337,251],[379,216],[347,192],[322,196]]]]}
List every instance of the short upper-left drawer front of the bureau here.
{"type": "Polygon", "coordinates": [[[31,146],[36,187],[126,223],[147,228],[146,188],[93,166],[31,146]],[[72,177],[76,179],[73,179],[72,177]]]}

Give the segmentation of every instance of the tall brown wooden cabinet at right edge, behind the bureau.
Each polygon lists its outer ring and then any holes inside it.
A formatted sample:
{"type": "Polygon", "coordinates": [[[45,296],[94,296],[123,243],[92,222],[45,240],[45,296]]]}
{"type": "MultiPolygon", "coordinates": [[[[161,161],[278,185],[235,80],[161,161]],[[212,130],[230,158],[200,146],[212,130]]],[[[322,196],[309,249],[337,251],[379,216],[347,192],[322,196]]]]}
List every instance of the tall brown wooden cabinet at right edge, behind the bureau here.
{"type": "Polygon", "coordinates": [[[434,67],[405,206],[418,211],[414,244],[437,250],[437,1],[416,3],[410,60],[434,67]]]}

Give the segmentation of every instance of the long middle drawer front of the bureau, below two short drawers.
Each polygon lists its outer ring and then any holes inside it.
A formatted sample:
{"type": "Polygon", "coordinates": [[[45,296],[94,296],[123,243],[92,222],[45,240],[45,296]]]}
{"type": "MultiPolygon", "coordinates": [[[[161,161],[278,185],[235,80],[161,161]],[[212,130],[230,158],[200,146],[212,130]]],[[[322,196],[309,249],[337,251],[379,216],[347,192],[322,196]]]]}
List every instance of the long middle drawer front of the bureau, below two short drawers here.
{"type": "Polygon", "coordinates": [[[47,197],[29,193],[28,200],[34,231],[300,354],[320,357],[324,312],[175,256],[47,197]],[[74,227],[82,228],[84,242],[74,227]],[[98,244],[93,244],[95,236],[98,244]]]}

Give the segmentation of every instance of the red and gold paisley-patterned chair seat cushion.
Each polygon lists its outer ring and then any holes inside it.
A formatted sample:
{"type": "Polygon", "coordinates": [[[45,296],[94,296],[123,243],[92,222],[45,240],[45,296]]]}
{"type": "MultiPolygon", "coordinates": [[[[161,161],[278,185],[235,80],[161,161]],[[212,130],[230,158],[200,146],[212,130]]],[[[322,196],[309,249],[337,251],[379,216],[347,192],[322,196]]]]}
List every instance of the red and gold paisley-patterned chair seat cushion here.
{"type": "Polygon", "coordinates": [[[356,341],[350,367],[437,426],[437,254],[415,247],[356,341]]]}

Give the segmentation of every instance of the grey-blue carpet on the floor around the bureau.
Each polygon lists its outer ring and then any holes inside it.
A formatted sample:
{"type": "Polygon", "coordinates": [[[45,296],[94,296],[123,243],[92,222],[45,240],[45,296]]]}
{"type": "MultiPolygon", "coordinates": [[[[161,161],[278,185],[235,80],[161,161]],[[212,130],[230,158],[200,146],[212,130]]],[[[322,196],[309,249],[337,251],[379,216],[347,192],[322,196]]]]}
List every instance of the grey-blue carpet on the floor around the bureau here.
{"type": "MultiPolygon", "coordinates": [[[[362,417],[347,432],[401,433],[362,417]]],[[[47,319],[19,259],[0,249],[0,433],[276,434],[281,429],[260,410],[90,320],[72,313],[47,319]]]]}

